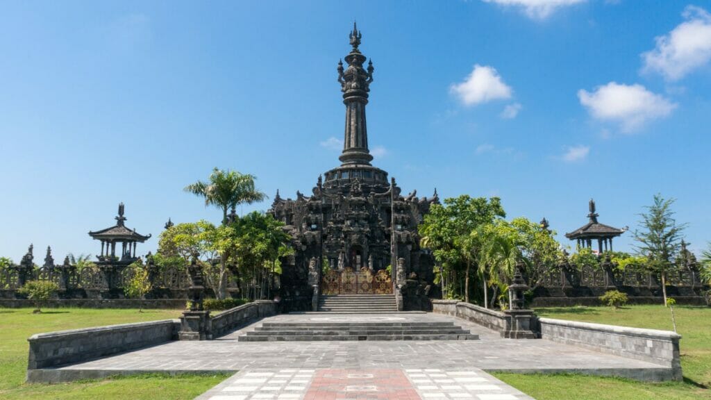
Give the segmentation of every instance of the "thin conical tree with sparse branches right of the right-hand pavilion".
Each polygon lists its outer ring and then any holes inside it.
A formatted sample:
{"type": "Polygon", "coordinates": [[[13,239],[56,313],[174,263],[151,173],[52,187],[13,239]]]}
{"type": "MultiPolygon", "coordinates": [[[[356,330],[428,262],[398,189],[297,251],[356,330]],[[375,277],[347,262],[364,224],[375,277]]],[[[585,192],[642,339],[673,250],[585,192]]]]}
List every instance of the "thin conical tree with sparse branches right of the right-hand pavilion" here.
{"type": "Polygon", "coordinates": [[[634,232],[638,242],[635,246],[639,255],[647,258],[649,267],[661,276],[664,305],[667,306],[666,275],[673,268],[673,258],[681,247],[685,224],[674,219],[671,206],[674,199],[664,199],[661,194],[654,196],[654,203],[646,206],[646,213],[639,214],[641,230],[634,232]]]}

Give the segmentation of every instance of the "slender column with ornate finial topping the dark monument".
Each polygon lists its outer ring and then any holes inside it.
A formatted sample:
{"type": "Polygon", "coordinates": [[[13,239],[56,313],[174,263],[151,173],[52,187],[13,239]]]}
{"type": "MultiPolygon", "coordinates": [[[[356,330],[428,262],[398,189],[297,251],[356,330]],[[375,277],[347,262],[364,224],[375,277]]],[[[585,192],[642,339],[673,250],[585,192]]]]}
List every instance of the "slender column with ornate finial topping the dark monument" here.
{"type": "Polygon", "coordinates": [[[343,104],[346,105],[346,132],[343,136],[343,153],[338,159],[345,164],[370,165],[373,156],[368,150],[368,128],[365,125],[365,105],[368,104],[370,83],[373,82],[373,62],[368,62],[368,68],[363,68],[365,56],[360,53],[360,38],[363,34],[353,22],[353,31],[348,35],[353,48],[344,59],[348,68],[343,68],[343,62],[338,61],[338,83],[341,83],[343,104]]]}

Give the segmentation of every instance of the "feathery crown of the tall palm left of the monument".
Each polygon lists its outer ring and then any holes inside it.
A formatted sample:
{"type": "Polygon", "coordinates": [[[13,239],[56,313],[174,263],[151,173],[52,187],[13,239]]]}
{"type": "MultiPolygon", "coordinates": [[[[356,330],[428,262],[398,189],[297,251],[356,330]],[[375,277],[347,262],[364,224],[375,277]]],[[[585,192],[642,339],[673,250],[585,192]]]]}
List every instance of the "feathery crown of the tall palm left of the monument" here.
{"type": "Polygon", "coordinates": [[[228,210],[235,211],[240,204],[252,204],[263,201],[267,195],[255,189],[254,175],[241,174],[228,169],[213,169],[210,181],[197,181],[185,187],[196,196],[205,198],[205,206],[215,206],[223,211],[223,224],[228,221],[228,210]]]}

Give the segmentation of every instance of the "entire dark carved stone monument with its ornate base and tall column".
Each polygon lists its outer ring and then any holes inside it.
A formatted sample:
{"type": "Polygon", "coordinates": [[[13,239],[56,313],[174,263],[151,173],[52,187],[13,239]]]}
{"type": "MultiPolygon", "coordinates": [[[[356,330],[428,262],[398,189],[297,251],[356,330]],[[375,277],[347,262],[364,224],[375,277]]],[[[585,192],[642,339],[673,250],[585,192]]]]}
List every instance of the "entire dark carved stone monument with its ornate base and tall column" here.
{"type": "Polygon", "coordinates": [[[395,179],[388,181],[387,172],[370,164],[365,106],[374,68],[370,61],[364,66],[367,58],[359,49],[362,34],[355,23],[349,38],[347,67],[339,61],[337,68],[346,105],[341,165],[319,176],[311,196],[297,191],[296,199],[283,199],[277,191],[269,211],[287,224],[296,249],[292,258],[284,260],[286,295],[306,295],[314,285],[321,287],[321,293],[368,292],[368,285],[326,285],[323,275],[328,270],[376,274],[391,265],[392,290],[405,285],[407,277],[425,282],[433,278],[434,260],[419,248],[417,225],[430,204],[438,201],[437,191],[429,198],[418,199],[416,191],[401,196],[395,179]]]}

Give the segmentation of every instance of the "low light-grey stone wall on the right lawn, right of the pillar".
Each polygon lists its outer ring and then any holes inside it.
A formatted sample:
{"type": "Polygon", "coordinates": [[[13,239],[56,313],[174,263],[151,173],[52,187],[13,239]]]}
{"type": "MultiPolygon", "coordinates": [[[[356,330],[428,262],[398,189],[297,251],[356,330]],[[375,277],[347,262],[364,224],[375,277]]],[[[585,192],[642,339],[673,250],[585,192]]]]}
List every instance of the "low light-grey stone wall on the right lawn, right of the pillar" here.
{"type": "Polygon", "coordinates": [[[539,318],[538,326],[542,339],[659,364],[672,370],[671,379],[682,379],[681,336],[674,332],[551,318],[539,318]]]}

